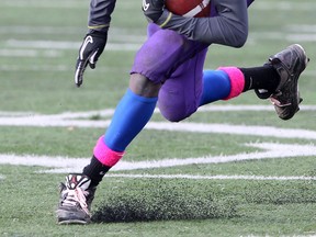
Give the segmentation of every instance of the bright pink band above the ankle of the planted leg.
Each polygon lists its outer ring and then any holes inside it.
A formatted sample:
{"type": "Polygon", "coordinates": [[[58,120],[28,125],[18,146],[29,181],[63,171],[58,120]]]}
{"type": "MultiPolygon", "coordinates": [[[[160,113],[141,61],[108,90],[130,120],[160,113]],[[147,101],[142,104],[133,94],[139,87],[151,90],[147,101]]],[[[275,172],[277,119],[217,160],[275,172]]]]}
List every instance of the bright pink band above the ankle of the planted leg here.
{"type": "Polygon", "coordinates": [[[99,138],[93,149],[94,157],[104,166],[113,167],[124,156],[124,151],[114,151],[104,144],[104,135],[99,138]]]}

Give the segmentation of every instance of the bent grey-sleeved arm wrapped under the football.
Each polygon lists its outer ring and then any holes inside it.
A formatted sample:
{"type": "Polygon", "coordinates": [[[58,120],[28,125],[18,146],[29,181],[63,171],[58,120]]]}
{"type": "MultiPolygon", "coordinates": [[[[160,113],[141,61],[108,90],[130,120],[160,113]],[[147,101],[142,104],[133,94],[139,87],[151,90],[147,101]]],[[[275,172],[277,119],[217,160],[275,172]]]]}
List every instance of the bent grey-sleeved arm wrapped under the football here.
{"type": "Polygon", "coordinates": [[[155,23],[162,29],[177,31],[192,41],[240,47],[248,36],[247,7],[251,2],[252,0],[214,0],[212,4],[217,12],[214,18],[183,18],[163,10],[155,23]]]}

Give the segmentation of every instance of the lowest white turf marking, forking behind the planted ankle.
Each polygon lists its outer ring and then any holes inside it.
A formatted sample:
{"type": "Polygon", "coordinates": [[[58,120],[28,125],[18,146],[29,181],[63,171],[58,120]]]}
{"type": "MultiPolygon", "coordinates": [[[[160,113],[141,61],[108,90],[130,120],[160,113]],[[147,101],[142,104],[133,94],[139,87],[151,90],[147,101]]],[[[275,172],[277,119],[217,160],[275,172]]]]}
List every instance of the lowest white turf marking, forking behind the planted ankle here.
{"type": "MultiPolygon", "coordinates": [[[[143,170],[143,169],[157,169],[170,168],[177,166],[190,165],[207,165],[207,163],[223,163],[236,162],[241,160],[258,160],[258,159],[280,159],[290,157],[305,157],[316,156],[316,147],[313,145],[295,145],[295,144],[246,144],[255,148],[263,149],[262,151],[255,151],[249,154],[238,154],[232,156],[208,156],[195,158],[172,158],[161,160],[147,160],[147,161],[120,161],[106,177],[112,178],[145,178],[145,179],[193,179],[193,180],[316,180],[316,177],[271,177],[271,176],[200,176],[200,174],[126,174],[117,171],[124,170],[143,170]]],[[[90,159],[83,158],[66,158],[66,157],[48,157],[48,156],[31,156],[31,155],[0,155],[0,165],[13,166],[38,166],[47,167],[49,169],[41,170],[43,173],[69,173],[80,172],[90,159]]],[[[4,179],[4,177],[0,179],[4,179]]]]}

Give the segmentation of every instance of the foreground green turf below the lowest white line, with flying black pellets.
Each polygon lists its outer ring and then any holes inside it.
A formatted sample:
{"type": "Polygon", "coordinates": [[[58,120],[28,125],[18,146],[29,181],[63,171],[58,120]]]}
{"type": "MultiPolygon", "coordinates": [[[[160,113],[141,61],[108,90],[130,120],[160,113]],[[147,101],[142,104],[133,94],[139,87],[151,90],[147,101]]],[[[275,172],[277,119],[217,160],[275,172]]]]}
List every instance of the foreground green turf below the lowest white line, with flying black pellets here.
{"type": "Polygon", "coordinates": [[[8,179],[1,183],[2,236],[292,236],[315,230],[315,182],[117,178],[108,178],[98,190],[94,224],[58,226],[56,183],[63,177],[35,170],[0,167],[8,179]]]}

